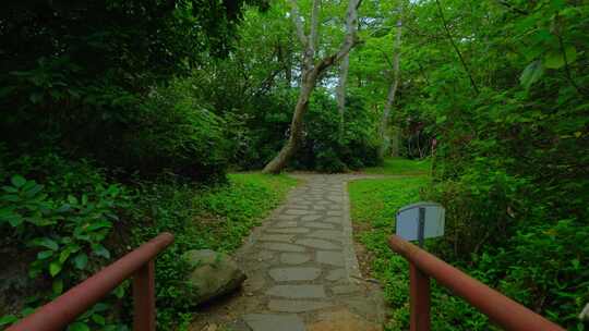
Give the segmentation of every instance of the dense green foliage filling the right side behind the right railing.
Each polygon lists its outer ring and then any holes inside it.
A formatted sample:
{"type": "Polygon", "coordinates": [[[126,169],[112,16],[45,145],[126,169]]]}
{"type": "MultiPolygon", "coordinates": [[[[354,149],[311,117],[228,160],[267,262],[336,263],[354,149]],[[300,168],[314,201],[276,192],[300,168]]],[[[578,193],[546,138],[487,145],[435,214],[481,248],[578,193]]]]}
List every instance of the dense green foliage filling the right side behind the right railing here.
{"type": "Polygon", "coordinates": [[[577,1],[409,7],[401,68],[414,78],[398,117],[419,118],[437,138],[424,197],[447,208],[448,231],[434,252],[579,330],[589,301],[588,13],[577,1]]]}

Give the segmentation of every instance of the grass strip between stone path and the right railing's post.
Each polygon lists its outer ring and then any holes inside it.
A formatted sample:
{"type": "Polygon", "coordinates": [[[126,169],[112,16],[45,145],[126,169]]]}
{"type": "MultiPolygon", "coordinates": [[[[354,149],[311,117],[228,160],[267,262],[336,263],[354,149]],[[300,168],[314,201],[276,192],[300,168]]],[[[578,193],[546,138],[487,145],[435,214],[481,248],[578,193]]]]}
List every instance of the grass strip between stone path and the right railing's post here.
{"type": "Polygon", "coordinates": [[[356,238],[371,256],[372,277],[383,284],[390,307],[386,330],[407,330],[409,317],[409,271],[402,257],[386,244],[395,232],[395,213],[408,204],[420,200],[421,187],[428,185],[428,161],[389,159],[384,167],[365,171],[371,174],[410,174],[408,176],[350,182],[348,191],[356,238]],[[420,175],[421,173],[421,175],[420,175]],[[358,232],[359,231],[359,232],[358,232]]]}

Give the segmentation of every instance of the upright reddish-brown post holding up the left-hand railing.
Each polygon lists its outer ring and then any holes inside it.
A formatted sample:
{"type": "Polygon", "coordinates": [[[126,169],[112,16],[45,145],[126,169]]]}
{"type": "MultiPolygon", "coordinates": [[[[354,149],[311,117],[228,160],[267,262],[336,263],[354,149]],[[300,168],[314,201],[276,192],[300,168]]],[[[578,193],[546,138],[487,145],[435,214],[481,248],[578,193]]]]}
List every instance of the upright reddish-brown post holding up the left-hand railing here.
{"type": "Polygon", "coordinates": [[[155,331],[155,263],[153,259],[133,274],[133,330],[155,331]]]}

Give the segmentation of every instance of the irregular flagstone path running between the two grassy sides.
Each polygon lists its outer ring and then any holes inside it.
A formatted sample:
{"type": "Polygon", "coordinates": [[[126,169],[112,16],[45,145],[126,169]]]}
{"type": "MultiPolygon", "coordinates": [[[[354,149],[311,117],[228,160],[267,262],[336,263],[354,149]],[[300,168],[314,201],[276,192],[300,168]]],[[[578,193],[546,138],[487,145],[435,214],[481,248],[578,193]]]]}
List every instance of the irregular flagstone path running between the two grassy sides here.
{"type": "Polygon", "coordinates": [[[346,185],[358,176],[297,176],[303,183],[238,250],[242,292],[192,330],[381,330],[381,290],[362,280],[353,249],[346,185]]]}

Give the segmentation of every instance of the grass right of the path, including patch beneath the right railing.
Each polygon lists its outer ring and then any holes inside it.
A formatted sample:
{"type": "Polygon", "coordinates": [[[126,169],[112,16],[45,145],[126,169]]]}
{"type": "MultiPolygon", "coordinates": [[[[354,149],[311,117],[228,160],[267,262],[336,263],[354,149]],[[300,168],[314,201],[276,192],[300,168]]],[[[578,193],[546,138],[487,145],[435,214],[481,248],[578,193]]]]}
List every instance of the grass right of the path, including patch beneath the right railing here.
{"type": "MultiPolygon", "coordinates": [[[[381,281],[389,306],[389,319],[385,323],[388,331],[409,329],[409,266],[405,258],[390,250],[387,238],[395,232],[397,210],[419,201],[420,191],[429,185],[430,177],[423,172],[421,175],[416,172],[416,169],[424,169],[424,163],[388,160],[384,167],[386,169],[373,168],[374,173],[392,174],[395,169],[397,174],[406,175],[359,180],[348,185],[351,218],[357,225],[356,237],[371,254],[372,277],[381,281]]],[[[426,247],[431,244],[428,242],[426,247]]],[[[481,314],[435,282],[432,286],[432,330],[484,329],[486,319],[481,314]],[[460,322],[457,323],[457,320],[460,322]]]]}

